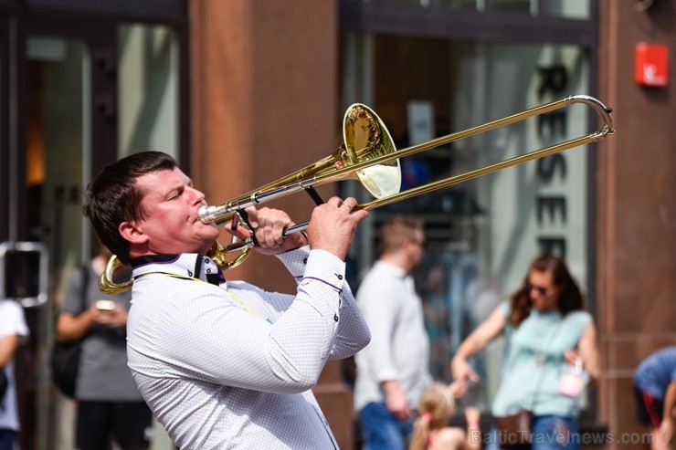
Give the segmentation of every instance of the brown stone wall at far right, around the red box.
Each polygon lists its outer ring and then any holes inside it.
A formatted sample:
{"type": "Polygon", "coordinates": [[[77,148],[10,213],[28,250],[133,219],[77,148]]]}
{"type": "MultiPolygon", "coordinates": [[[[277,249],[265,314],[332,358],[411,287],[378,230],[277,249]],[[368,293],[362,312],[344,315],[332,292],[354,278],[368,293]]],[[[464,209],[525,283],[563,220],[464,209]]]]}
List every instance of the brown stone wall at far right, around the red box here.
{"type": "Polygon", "coordinates": [[[618,130],[598,146],[599,416],[616,442],[639,431],[634,369],[676,344],[676,78],[672,69],[668,88],[634,81],[637,43],[666,44],[676,58],[676,2],[657,0],[648,12],[637,3],[598,3],[598,97],[613,108],[618,130]]]}

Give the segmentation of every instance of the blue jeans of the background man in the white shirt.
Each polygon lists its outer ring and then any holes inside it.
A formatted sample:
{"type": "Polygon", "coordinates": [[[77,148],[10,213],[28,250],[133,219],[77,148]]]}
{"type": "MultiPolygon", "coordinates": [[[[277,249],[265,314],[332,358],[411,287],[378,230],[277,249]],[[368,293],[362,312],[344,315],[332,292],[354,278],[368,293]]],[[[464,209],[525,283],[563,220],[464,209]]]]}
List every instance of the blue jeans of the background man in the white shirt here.
{"type": "Polygon", "coordinates": [[[400,421],[385,403],[368,403],[359,412],[362,450],[406,450],[413,432],[413,417],[400,421]]]}

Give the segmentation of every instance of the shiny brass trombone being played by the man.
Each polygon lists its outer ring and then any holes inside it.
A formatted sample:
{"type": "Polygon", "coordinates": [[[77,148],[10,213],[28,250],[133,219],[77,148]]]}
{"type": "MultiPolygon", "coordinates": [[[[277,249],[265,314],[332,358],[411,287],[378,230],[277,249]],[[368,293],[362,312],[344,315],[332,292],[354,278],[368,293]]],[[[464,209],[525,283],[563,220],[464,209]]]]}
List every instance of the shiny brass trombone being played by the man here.
{"type": "MultiPolygon", "coordinates": [[[[354,207],[354,210],[369,211],[379,206],[393,204],[417,195],[428,194],[453,184],[463,183],[489,173],[495,173],[513,165],[523,164],[523,162],[544,158],[545,156],[564,152],[580,145],[599,141],[615,132],[610,115],[611,112],[612,110],[607,108],[598,99],[587,95],[573,95],[530,110],[512,114],[499,120],[493,120],[465,131],[450,133],[431,141],[397,150],[389,131],[387,131],[382,120],[375,114],[375,111],[361,103],[354,103],[345,111],[343,117],[343,144],[335,152],[300,171],[261,186],[248,194],[240,195],[225,204],[202,206],[199,210],[199,218],[205,223],[222,225],[230,222],[233,227],[236,227],[240,222],[246,224],[244,209],[249,206],[262,204],[284,195],[295,194],[301,191],[307,192],[315,203],[321,204],[322,199],[314,191],[314,186],[347,179],[358,180],[375,197],[375,200],[358,204],[354,207]],[[399,159],[574,104],[586,105],[596,110],[603,120],[603,126],[598,131],[586,136],[580,136],[467,173],[460,173],[436,182],[408,189],[404,192],[399,192],[401,185],[399,159]]],[[[290,226],[284,235],[304,231],[307,226],[308,222],[290,226]]],[[[215,243],[209,250],[209,254],[219,267],[230,269],[241,264],[254,246],[255,240],[253,238],[241,241],[233,238],[233,241],[228,246],[221,246],[215,243]],[[228,261],[227,255],[234,252],[241,253],[235,259],[228,261]]],[[[112,256],[108,262],[108,267],[106,267],[105,272],[100,278],[99,287],[101,291],[113,294],[131,288],[132,280],[123,283],[116,283],[112,280],[114,269],[120,265],[121,263],[116,256],[112,256]]]]}

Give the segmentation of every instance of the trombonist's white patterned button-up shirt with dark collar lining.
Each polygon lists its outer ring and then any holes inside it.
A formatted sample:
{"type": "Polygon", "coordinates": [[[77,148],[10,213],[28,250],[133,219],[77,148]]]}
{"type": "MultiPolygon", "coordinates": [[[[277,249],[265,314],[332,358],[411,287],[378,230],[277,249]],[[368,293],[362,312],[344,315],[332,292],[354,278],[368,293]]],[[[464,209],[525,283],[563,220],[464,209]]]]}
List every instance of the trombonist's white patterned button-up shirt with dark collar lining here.
{"type": "Polygon", "coordinates": [[[209,284],[218,269],[206,256],[133,261],[129,366],[181,450],[338,447],[311,388],[369,331],[343,261],[308,247],[279,257],[295,296],[209,284]]]}

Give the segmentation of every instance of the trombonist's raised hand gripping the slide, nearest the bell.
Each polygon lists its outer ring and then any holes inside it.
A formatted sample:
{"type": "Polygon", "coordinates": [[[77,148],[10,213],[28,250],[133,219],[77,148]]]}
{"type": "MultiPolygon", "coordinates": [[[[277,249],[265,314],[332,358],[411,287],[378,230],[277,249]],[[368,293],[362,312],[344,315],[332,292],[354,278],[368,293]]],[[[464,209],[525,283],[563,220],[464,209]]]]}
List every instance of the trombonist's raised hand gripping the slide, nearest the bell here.
{"type": "Polygon", "coordinates": [[[308,238],[313,249],[326,250],[344,260],[352,245],[359,222],[368,217],[365,210],[353,211],[357,201],[353,197],[341,200],[332,197],[312,211],[308,238]]]}

